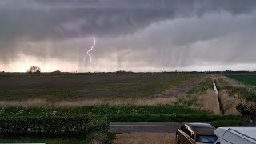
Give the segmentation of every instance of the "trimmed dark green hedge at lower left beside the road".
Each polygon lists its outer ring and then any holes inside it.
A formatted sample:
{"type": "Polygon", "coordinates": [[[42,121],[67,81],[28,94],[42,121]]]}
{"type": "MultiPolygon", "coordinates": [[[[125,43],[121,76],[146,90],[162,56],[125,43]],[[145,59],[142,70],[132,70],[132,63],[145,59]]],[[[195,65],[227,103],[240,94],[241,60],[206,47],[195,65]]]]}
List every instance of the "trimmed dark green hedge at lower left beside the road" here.
{"type": "Polygon", "coordinates": [[[0,118],[1,135],[89,135],[106,133],[109,121],[106,117],[16,117],[0,118]]]}

